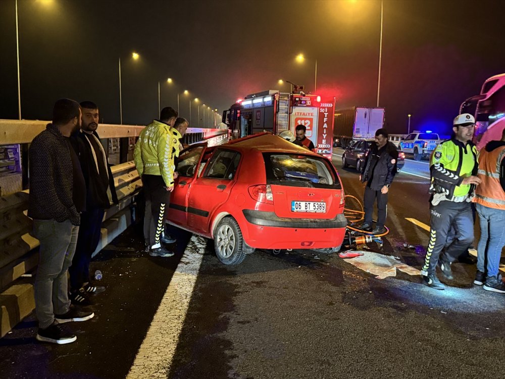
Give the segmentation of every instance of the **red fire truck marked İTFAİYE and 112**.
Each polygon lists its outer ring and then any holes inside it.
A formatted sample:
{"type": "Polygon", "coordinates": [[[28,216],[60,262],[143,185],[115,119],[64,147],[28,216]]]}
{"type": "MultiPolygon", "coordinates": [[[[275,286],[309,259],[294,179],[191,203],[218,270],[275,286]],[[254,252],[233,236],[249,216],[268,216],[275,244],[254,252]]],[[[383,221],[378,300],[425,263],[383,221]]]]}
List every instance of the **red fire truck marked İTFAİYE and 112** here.
{"type": "Polygon", "coordinates": [[[295,134],[297,125],[305,125],[305,135],[313,142],[314,151],[331,159],[335,98],[298,89],[296,86],[293,93],[270,89],[248,94],[223,112],[223,122],[233,138],[263,131],[278,135],[290,130],[295,134]]]}

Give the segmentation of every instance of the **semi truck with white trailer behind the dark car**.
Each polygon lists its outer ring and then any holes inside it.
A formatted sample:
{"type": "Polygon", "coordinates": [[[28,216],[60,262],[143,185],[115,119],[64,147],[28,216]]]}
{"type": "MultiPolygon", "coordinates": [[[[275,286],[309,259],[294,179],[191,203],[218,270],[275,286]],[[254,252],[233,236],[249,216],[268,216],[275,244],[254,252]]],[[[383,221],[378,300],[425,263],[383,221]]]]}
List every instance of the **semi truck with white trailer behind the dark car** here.
{"type": "Polygon", "coordinates": [[[333,147],[347,148],[358,139],[375,139],[384,125],[384,108],[351,107],[335,111],[333,147]]]}

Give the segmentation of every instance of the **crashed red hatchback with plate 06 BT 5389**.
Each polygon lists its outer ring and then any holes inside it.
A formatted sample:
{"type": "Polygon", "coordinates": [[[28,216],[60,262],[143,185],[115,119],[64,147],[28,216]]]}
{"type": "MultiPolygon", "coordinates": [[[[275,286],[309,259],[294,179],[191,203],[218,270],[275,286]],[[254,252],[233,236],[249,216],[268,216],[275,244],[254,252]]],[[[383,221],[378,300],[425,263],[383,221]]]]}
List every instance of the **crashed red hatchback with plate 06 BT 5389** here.
{"type": "Polygon", "coordinates": [[[338,251],[347,221],[331,161],[270,133],[179,156],[167,221],[214,240],[224,264],[255,249],[338,251]]]}

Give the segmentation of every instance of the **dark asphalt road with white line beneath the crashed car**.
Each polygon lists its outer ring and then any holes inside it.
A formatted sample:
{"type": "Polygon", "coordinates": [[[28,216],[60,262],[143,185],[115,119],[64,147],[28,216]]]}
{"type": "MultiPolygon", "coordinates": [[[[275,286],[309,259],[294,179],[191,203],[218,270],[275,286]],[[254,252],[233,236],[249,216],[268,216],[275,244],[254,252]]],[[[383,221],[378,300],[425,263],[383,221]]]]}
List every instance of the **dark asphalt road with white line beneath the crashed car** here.
{"type": "MultiPolygon", "coordinates": [[[[361,199],[358,173],[334,158],[346,194],[361,199]]],[[[428,167],[412,162],[390,188],[384,245],[369,248],[419,269],[428,232],[406,218],[429,224],[428,167]]],[[[151,258],[129,228],[92,262],[107,291],[93,319],[72,323],[77,342],[37,343],[31,315],[0,340],[0,377],[505,376],[505,297],[473,286],[473,265],[454,264],[455,280],[435,291],[419,275],[379,279],[312,251],[224,266],[211,242],[174,233],[176,255],[151,258]]]]}

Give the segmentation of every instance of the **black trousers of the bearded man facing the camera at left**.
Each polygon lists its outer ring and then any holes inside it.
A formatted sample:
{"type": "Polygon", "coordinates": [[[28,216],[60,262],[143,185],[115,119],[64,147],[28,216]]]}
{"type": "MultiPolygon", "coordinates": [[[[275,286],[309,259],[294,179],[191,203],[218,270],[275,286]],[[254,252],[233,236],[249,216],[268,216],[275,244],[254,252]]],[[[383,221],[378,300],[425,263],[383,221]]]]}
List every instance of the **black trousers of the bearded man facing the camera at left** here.
{"type": "Polygon", "coordinates": [[[96,250],[100,241],[100,228],[104,212],[104,209],[96,208],[81,213],[77,246],[72,258],[72,265],[68,268],[70,291],[77,291],[84,283],[89,282],[89,262],[91,254],[96,250]]]}

